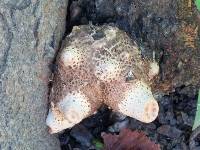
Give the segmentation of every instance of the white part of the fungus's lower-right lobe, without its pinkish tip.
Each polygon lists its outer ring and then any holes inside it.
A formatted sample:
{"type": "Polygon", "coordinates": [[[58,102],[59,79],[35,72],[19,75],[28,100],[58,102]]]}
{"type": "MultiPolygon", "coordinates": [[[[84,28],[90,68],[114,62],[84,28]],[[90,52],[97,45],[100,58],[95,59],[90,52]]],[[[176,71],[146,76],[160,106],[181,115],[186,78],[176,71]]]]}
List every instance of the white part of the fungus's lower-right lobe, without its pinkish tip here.
{"type": "MultiPolygon", "coordinates": [[[[150,88],[138,82],[124,94],[124,100],[118,105],[120,112],[137,120],[147,122],[145,104],[154,100],[150,88]]],[[[157,104],[157,102],[155,101],[157,104]]],[[[153,116],[154,117],[154,116],[153,116]]],[[[153,121],[155,118],[150,118],[153,121]]],[[[148,122],[151,122],[148,120],[148,122]]]]}

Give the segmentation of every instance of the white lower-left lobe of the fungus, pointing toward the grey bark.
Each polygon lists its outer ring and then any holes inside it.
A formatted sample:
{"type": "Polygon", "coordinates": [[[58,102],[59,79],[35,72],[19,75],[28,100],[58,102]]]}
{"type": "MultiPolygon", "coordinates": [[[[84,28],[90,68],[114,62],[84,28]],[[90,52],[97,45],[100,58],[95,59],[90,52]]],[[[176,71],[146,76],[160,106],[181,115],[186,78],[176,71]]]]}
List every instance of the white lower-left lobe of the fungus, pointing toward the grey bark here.
{"type": "Polygon", "coordinates": [[[70,128],[84,119],[91,111],[88,98],[81,92],[69,93],[57,104],[61,115],[49,111],[46,124],[51,128],[52,133],[70,128]]]}

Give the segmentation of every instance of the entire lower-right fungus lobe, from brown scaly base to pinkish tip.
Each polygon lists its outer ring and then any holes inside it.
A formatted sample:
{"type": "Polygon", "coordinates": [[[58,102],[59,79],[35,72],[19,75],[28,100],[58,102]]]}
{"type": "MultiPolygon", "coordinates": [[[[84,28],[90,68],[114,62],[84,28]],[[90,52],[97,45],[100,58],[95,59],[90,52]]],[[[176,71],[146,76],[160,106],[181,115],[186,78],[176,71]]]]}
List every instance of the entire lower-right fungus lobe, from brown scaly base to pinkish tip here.
{"type": "Polygon", "coordinates": [[[145,123],[156,119],[159,111],[150,87],[136,80],[131,83],[118,81],[107,86],[107,101],[105,102],[117,112],[135,118],[145,123]]]}

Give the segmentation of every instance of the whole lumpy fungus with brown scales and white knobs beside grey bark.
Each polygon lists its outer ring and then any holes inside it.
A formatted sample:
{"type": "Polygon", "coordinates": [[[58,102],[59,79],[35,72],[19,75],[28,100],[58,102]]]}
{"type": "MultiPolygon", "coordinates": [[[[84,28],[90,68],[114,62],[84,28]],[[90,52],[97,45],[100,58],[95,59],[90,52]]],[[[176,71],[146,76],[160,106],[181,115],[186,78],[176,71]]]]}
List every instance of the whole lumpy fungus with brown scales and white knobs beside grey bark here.
{"type": "Polygon", "coordinates": [[[103,103],[142,122],[157,117],[150,85],[159,67],[141,58],[135,42],[118,28],[74,27],[57,65],[46,119],[50,133],[74,126],[103,103]]]}

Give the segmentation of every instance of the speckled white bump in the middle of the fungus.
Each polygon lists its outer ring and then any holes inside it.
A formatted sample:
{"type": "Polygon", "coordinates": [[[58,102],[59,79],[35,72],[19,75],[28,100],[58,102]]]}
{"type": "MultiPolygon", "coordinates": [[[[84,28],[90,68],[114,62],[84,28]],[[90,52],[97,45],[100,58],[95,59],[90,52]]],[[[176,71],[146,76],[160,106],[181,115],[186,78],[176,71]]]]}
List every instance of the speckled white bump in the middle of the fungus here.
{"type": "Polygon", "coordinates": [[[120,73],[119,63],[115,60],[100,61],[95,66],[95,76],[102,81],[109,81],[117,78],[120,73]]]}

